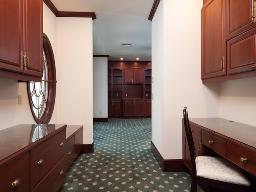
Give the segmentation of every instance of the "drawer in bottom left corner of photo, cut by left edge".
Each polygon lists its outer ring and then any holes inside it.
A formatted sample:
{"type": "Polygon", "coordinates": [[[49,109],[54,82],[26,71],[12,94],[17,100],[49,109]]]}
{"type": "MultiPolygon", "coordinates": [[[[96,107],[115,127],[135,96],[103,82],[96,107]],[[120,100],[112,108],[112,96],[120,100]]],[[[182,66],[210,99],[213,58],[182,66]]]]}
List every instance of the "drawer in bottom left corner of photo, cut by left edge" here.
{"type": "Polygon", "coordinates": [[[28,152],[17,160],[7,163],[0,168],[0,191],[2,192],[25,192],[28,190],[28,152]],[[20,183],[18,187],[11,188],[12,184],[20,183]]]}

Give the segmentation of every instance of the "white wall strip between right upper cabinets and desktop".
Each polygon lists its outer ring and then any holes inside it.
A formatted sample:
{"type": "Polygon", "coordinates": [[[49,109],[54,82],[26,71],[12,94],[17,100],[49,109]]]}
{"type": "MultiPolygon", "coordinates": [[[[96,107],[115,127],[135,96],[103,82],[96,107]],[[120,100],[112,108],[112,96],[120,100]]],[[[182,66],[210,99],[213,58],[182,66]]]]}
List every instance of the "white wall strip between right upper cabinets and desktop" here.
{"type": "Polygon", "coordinates": [[[256,78],[220,83],[220,117],[256,126],[256,78]]]}

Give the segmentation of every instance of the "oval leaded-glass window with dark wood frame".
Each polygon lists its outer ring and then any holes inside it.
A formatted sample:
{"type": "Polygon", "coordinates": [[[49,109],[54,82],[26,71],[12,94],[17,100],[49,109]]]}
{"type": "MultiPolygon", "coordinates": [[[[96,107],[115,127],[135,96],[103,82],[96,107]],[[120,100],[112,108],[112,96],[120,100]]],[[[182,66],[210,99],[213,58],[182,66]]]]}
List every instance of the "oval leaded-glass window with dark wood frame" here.
{"type": "Polygon", "coordinates": [[[48,124],[54,109],[56,96],[56,70],[52,46],[43,34],[42,82],[27,83],[30,109],[37,124],[48,124]]]}

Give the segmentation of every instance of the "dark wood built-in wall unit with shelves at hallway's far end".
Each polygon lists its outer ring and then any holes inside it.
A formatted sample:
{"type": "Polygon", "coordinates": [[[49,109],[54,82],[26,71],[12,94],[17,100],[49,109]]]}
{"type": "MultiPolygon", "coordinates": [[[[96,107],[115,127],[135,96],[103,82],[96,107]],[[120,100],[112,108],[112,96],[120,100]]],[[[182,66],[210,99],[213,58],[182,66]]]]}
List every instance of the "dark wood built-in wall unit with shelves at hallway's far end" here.
{"type": "Polygon", "coordinates": [[[108,117],[151,117],[151,62],[108,61],[108,117]]]}

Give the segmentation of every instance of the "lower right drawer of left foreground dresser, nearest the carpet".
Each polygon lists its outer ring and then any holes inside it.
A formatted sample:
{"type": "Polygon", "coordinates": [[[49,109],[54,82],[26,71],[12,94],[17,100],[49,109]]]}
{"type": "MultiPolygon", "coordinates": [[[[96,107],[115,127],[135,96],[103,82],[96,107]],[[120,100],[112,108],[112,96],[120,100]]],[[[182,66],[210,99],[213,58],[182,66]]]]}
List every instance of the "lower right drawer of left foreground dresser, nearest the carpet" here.
{"type": "Polygon", "coordinates": [[[66,155],[48,172],[32,192],[57,192],[66,179],[66,155]]]}

